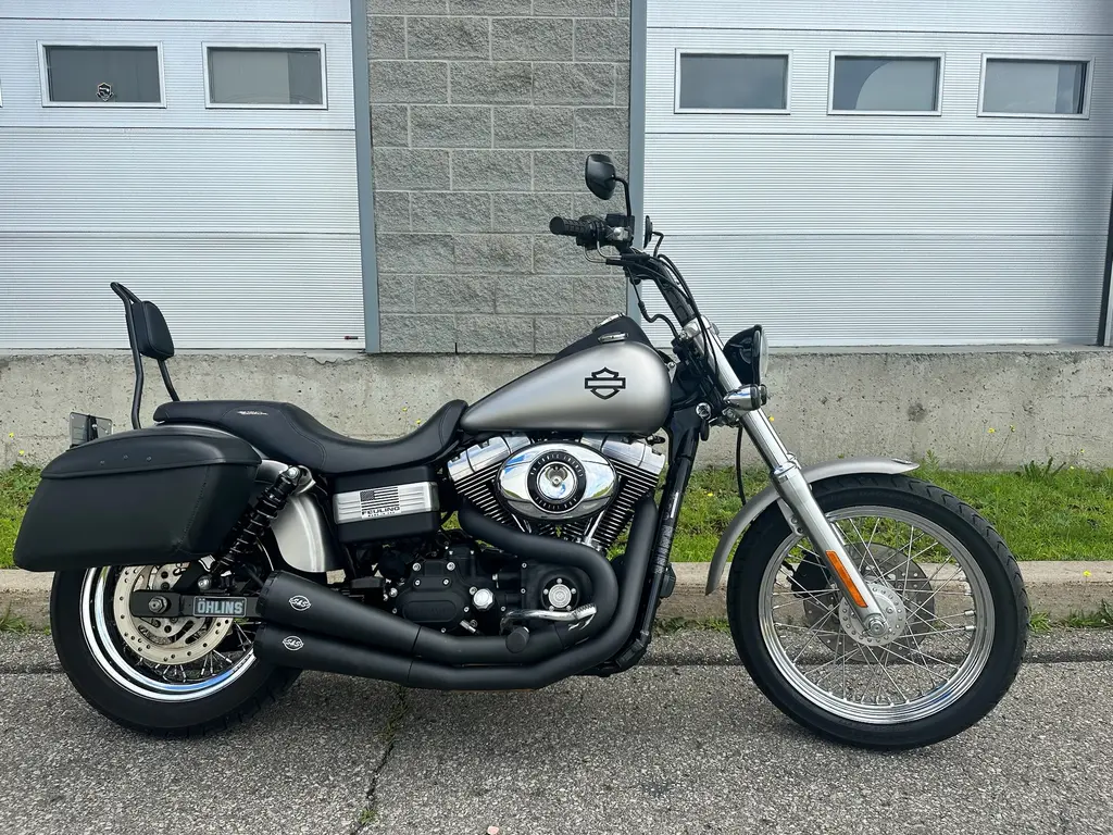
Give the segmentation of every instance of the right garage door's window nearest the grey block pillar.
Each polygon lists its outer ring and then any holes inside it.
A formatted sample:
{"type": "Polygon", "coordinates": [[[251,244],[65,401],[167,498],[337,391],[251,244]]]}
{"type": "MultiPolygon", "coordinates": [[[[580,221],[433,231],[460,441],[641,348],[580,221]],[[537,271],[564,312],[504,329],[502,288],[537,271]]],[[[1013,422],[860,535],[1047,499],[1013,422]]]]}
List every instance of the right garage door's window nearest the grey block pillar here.
{"type": "Polygon", "coordinates": [[[677,52],[677,112],[788,112],[788,55],[677,52]]]}

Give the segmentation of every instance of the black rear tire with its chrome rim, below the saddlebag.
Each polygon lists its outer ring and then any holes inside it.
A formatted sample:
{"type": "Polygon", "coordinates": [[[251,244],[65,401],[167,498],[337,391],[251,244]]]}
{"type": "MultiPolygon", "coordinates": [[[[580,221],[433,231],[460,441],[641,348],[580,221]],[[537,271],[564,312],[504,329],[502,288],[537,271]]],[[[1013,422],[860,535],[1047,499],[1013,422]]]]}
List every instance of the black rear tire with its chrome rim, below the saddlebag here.
{"type": "Polygon", "coordinates": [[[111,618],[98,621],[95,616],[90,591],[106,570],[55,576],[50,630],[58,660],[75,689],[118,725],[155,736],[204,736],[276,703],[297,678],[298,670],[266,664],[248,651],[234,675],[207,689],[201,686],[184,692],[173,685],[159,689],[151,670],[137,660],[111,618]],[[137,675],[130,677],[121,661],[132,662],[137,675]]]}

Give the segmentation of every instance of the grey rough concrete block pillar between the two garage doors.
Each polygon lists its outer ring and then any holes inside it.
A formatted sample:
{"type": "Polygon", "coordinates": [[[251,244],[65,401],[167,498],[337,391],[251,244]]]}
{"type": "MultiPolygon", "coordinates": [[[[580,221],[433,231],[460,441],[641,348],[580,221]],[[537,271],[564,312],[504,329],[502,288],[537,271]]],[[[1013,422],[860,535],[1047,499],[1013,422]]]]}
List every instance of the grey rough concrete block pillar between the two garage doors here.
{"type": "Polygon", "coordinates": [[[548,354],[624,312],[621,273],[548,229],[608,210],[589,153],[626,170],[629,1],[367,11],[382,350],[548,354]]]}

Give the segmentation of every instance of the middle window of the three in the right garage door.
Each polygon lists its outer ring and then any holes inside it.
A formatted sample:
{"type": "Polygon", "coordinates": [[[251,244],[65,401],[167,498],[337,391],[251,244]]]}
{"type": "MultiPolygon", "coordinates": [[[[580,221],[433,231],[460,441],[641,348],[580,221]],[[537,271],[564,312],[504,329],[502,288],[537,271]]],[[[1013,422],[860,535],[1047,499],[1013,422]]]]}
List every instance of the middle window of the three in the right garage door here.
{"type": "Polygon", "coordinates": [[[831,114],[939,114],[943,59],[831,55],[831,114]]]}

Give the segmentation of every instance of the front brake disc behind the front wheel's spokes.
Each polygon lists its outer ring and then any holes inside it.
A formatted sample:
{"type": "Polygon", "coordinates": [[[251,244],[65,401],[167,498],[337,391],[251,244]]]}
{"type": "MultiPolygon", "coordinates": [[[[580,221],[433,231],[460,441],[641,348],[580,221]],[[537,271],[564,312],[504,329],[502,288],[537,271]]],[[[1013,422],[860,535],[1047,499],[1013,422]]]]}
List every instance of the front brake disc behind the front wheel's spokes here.
{"type": "MultiPolygon", "coordinates": [[[[869,546],[868,556],[860,542],[848,543],[847,550],[871,589],[881,590],[889,602],[900,600],[904,603],[903,617],[894,621],[899,622],[903,635],[898,632],[883,642],[893,642],[905,648],[917,647],[922,640],[919,635],[925,631],[920,627],[925,623],[930,625],[935,620],[935,598],[927,573],[903,551],[888,546],[869,546]]],[[[844,646],[847,640],[863,642],[853,629],[849,633],[846,630],[843,622],[845,601],[841,600],[826,567],[805,560],[797,564],[790,583],[804,607],[806,625],[815,628],[824,623],[824,630],[818,632],[818,638],[824,644],[844,652],[849,649],[844,646]],[[833,609],[835,616],[828,617],[833,609]]],[[[876,644],[876,641],[870,642],[876,644]]]]}

